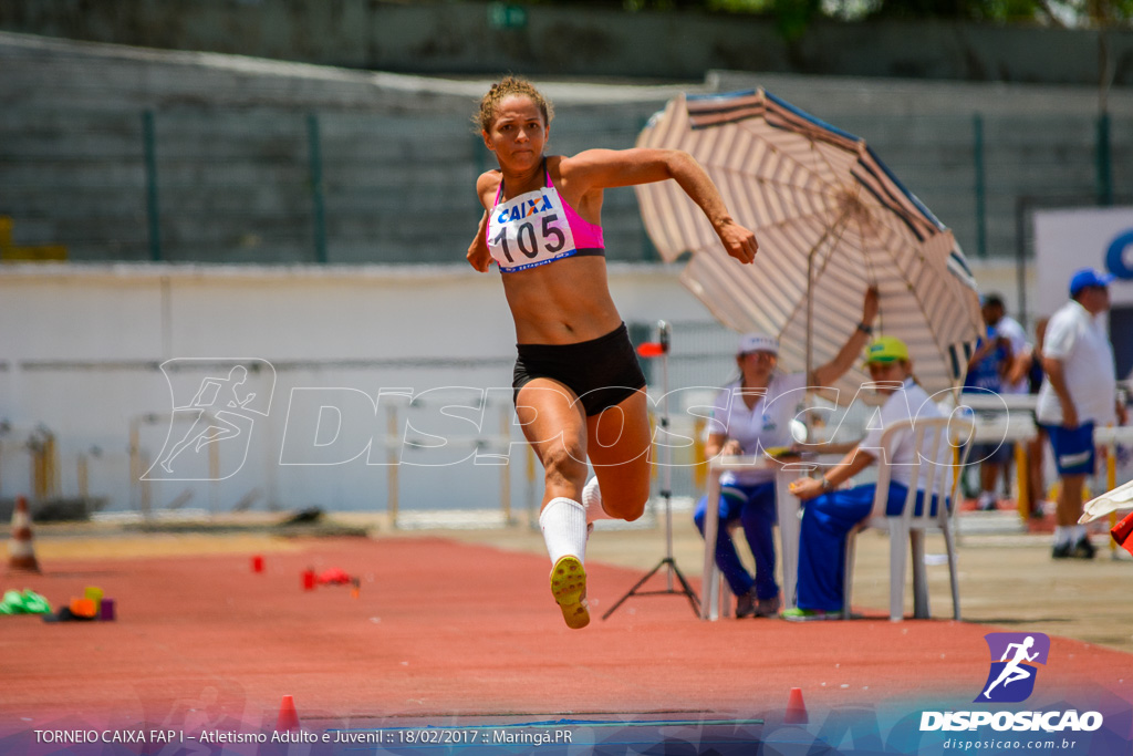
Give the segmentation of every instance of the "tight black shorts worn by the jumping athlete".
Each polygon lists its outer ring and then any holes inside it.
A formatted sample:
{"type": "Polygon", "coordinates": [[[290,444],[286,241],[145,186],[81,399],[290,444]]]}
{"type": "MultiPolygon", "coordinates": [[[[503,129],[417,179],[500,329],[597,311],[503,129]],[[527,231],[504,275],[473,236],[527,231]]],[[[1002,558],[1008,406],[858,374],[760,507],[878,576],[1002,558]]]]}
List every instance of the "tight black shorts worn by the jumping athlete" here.
{"type": "Polygon", "coordinates": [[[519,343],[511,385],[546,377],[566,385],[582,401],[587,416],[619,405],[645,388],[625,323],[597,339],[578,343],[519,343]]]}

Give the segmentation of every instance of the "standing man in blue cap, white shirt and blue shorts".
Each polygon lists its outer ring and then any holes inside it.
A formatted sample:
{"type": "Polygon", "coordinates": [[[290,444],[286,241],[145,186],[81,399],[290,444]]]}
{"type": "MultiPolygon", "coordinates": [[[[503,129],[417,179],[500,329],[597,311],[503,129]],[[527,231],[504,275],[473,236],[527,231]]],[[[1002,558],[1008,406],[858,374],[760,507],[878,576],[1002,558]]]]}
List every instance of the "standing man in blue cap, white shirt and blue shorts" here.
{"type": "Polygon", "coordinates": [[[1074,273],[1071,300],[1047,324],[1042,345],[1046,376],[1039,388],[1036,417],[1050,439],[1058,477],[1053,557],[1093,559],[1082,516],[1082,484],[1093,473],[1093,428],[1117,419],[1125,408],[1117,405],[1114,349],[1101,314],[1109,309],[1109,282],[1114,277],[1091,267],[1074,273]]]}

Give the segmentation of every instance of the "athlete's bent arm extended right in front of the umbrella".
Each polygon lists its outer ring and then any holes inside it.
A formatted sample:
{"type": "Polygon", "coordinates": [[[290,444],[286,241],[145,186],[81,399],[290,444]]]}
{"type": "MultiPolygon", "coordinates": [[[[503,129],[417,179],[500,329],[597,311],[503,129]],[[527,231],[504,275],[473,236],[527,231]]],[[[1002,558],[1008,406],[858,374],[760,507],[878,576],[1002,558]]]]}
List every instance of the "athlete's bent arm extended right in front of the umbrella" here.
{"type": "Polygon", "coordinates": [[[696,159],[681,150],[587,150],[563,158],[560,172],[582,192],[675,180],[704,211],[729,255],[750,263],[759,250],[756,235],[732,218],[719,189],[696,159]]]}

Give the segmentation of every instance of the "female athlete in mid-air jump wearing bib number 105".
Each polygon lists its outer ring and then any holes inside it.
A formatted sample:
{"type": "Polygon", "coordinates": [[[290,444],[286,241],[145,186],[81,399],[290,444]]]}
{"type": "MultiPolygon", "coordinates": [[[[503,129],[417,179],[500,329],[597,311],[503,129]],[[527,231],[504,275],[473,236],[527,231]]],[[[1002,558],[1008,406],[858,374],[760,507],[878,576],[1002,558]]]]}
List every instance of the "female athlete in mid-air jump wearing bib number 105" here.
{"type": "Polygon", "coordinates": [[[645,376],[610,296],[603,189],[675,179],[727,254],[750,263],[755,235],[732,220],[712,179],[672,150],[587,150],[545,155],[551,103],[508,77],[482,99],[477,124],[499,170],[476,181],[485,212],[468,262],[493,260],[516,321],[513,387],[523,435],[544,468],[539,527],[551,592],[571,628],[590,621],[583,559],[589,525],[634,520],[649,498],[645,376]],[[596,477],[586,482],[587,458],[596,477]]]}

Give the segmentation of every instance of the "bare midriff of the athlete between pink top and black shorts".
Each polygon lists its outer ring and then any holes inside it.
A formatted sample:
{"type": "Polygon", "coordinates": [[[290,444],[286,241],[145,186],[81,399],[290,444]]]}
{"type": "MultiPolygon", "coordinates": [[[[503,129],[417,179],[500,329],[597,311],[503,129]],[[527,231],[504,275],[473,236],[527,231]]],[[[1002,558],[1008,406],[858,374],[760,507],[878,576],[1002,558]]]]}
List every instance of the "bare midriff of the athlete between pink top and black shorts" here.
{"type": "Polygon", "coordinates": [[[517,343],[577,343],[622,323],[606,283],[604,257],[568,257],[504,273],[517,343]]]}

